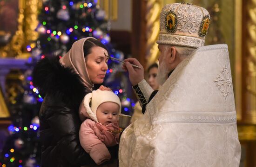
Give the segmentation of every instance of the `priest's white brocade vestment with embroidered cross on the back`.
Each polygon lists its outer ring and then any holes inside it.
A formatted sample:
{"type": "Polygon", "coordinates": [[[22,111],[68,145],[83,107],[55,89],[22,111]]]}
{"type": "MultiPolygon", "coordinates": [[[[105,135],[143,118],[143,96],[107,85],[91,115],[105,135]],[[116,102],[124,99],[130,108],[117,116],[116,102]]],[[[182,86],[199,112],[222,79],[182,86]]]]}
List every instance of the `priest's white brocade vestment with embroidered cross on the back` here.
{"type": "Polygon", "coordinates": [[[124,130],[120,167],[239,167],[228,46],[195,49],[124,130]]]}

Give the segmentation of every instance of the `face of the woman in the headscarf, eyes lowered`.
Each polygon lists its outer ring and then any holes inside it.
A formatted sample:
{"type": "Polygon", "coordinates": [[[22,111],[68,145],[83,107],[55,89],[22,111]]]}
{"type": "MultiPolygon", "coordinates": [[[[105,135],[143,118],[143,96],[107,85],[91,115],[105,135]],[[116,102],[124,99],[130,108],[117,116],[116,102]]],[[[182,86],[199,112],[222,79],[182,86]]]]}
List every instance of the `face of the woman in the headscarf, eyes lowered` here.
{"type": "Polygon", "coordinates": [[[89,78],[92,83],[100,84],[103,82],[108,70],[108,51],[100,46],[91,48],[91,53],[87,55],[85,62],[89,78]]]}

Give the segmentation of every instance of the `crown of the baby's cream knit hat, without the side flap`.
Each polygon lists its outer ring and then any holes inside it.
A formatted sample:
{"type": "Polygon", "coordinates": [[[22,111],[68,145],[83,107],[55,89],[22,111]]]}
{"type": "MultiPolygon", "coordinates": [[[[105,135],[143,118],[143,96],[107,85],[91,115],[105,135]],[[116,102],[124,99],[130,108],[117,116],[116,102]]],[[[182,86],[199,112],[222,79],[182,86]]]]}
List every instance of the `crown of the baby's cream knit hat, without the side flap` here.
{"type": "Polygon", "coordinates": [[[112,91],[109,90],[94,90],[92,92],[92,111],[96,114],[98,107],[105,102],[114,102],[119,105],[119,114],[121,114],[121,102],[119,97],[112,91]]]}

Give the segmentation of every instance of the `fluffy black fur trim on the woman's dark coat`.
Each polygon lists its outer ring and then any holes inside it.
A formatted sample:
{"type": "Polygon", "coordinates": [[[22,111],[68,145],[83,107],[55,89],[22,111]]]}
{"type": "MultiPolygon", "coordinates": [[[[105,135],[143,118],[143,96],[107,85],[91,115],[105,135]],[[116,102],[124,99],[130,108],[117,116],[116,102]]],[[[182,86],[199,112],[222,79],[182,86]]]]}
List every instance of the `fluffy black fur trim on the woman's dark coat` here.
{"type": "Polygon", "coordinates": [[[34,86],[39,89],[44,97],[56,96],[65,103],[81,103],[88,93],[80,80],[80,76],[72,69],[66,68],[59,63],[60,58],[41,59],[32,74],[34,86]]]}

